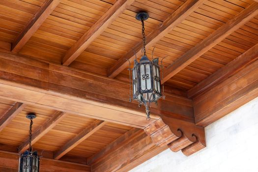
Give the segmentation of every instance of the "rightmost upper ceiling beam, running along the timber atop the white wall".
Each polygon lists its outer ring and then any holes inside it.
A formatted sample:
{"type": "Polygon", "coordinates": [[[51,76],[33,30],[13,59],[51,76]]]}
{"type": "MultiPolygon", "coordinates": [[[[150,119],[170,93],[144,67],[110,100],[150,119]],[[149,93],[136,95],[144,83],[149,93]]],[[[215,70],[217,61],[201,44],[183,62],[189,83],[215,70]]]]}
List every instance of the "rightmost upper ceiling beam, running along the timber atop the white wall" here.
{"type": "Polygon", "coordinates": [[[207,77],[201,83],[197,84],[188,91],[189,97],[194,97],[202,92],[207,91],[212,86],[217,85],[218,83],[224,81],[230,76],[234,75],[241,69],[248,66],[250,63],[258,59],[258,44],[250,48],[244,54],[235,58],[233,61],[229,62],[226,66],[220,68],[215,73],[207,77]]]}

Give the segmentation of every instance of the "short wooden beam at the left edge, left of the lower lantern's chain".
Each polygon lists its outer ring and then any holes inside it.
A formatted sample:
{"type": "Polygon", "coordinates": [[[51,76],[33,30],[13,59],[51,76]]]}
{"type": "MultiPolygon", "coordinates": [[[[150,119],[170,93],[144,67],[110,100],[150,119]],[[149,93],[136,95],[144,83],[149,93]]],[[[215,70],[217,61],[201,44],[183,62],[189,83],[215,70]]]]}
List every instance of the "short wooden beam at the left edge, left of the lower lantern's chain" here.
{"type": "Polygon", "coordinates": [[[15,103],[15,105],[2,116],[0,120],[0,132],[4,127],[6,127],[14,118],[16,115],[18,115],[24,108],[26,107],[26,104],[24,103],[15,103]]]}

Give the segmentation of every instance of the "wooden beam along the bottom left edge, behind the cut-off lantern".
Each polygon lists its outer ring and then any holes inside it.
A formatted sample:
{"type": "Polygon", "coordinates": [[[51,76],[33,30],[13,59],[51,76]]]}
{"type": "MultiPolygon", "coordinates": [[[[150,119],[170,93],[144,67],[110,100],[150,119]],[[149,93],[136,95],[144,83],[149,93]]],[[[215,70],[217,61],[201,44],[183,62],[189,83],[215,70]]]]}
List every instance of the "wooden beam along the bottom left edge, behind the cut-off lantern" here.
{"type": "MultiPolygon", "coordinates": [[[[17,172],[20,153],[0,150],[0,171],[17,172]]],[[[91,172],[90,166],[85,164],[54,160],[41,157],[40,172],[91,172]]]]}

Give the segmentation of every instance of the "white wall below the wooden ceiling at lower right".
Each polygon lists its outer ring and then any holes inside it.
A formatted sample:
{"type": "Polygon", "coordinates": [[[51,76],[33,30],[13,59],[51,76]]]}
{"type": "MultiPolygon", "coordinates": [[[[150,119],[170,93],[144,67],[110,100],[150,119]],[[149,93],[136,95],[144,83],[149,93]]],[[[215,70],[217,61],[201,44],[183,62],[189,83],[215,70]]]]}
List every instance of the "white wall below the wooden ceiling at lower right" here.
{"type": "Polygon", "coordinates": [[[258,172],[258,98],[205,127],[206,148],[170,149],[130,172],[258,172]]]}

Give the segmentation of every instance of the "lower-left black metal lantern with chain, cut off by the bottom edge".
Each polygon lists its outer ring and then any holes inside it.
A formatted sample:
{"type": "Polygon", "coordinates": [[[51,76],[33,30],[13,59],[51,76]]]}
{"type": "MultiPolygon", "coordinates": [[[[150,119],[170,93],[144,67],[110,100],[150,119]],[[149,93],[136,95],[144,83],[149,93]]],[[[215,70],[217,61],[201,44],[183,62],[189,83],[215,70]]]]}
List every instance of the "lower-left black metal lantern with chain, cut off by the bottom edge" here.
{"type": "Polygon", "coordinates": [[[20,156],[19,172],[39,172],[39,156],[37,154],[37,151],[32,151],[32,147],[31,147],[31,137],[32,137],[31,133],[32,133],[32,124],[33,124],[32,119],[34,119],[36,115],[28,114],[26,117],[30,119],[29,150],[26,150],[20,156]]]}

